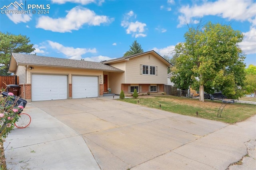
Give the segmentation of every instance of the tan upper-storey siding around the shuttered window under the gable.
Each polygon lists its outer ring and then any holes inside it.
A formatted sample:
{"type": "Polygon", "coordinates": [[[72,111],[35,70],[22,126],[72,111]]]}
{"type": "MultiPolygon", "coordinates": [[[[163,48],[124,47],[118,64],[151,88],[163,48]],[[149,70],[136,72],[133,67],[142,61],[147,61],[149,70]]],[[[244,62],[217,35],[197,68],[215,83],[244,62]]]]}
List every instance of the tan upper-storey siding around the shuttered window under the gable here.
{"type": "Polygon", "coordinates": [[[166,84],[167,65],[154,55],[144,55],[135,57],[126,62],[126,79],[125,83],[141,83],[141,84],[166,84]],[[140,64],[157,66],[157,75],[141,75],[140,64]]]}

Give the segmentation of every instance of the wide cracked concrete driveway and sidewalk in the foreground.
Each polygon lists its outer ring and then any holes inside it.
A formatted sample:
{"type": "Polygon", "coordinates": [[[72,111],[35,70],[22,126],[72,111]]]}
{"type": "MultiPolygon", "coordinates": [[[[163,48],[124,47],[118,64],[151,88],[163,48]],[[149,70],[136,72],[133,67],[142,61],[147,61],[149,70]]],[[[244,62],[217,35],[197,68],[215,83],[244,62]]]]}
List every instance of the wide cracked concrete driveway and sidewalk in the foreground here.
{"type": "MultiPolygon", "coordinates": [[[[30,127],[4,143],[10,169],[226,170],[255,149],[256,115],[229,125],[104,97],[25,109],[30,127]]],[[[250,158],[241,169],[255,167],[250,158]]]]}

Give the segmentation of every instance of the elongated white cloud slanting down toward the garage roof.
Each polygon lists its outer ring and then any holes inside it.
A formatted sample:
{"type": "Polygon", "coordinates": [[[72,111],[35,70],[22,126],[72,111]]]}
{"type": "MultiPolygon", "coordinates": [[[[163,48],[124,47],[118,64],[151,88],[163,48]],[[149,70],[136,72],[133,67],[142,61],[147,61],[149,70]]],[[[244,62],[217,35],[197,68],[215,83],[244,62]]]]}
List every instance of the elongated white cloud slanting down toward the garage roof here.
{"type": "Polygon", "coordinates": [[[69,59],[81,59],[81,55],[85,53],[96,53],[96,48],[93,49],[86,49],[86,48],[74,48],[74,47],[65,47],[64,45],[57,43],[57,42],[52,42],[50,40],[47,41],[49,45],[53,49],[57,49],[58,52],[63,53],[68,57],[69,59]]]}

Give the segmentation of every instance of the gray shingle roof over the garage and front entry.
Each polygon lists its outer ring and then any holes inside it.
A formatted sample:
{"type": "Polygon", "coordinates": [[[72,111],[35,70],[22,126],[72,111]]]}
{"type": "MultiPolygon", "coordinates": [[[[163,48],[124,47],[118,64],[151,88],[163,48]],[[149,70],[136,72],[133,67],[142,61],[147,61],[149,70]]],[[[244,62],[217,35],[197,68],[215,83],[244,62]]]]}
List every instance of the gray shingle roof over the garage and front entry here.
{"type": "Polygon", "coordinates": [[[94,69],[94,70],[104,70],[104,71],[118,71],[124,72],[116,67],[106,65],[99,62],[93,61],[82,61],[75,59],[63,59],[55,57],[45,57],[39,55],[28,55],[20,53],[12,53],[12,56],[18,64],[24,65],[42,65],[51,67],[69,67],[69,68],[80,68],[80,69],[94,69]]]}

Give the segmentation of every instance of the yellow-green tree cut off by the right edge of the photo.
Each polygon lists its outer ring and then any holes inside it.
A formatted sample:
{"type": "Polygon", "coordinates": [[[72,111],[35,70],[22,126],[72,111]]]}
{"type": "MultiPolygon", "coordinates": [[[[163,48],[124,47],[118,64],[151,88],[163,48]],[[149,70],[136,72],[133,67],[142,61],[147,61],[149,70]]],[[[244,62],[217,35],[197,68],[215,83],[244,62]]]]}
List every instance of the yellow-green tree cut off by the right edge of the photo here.
{"type": "Polygon", "coordinates": [[[249,65],[246,71],[246,91],[248,93],[254,93],[254,97],[256,97],[256,66],[249,65]]]}

